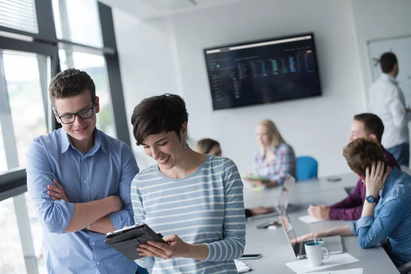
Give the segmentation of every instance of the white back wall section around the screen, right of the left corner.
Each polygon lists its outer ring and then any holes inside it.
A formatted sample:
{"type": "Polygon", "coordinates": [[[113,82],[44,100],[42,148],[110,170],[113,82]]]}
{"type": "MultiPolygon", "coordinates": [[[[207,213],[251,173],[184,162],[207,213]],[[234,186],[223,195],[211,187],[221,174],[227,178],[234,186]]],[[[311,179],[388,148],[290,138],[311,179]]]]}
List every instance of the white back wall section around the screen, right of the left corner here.
{"type": "Polygon", "coordinates": [[[260,0],[173,16],[192,138],[221,141],[240,173],[251,171],[254,127],[272,119],[297,155],[319,160],[319,175],[349,171],[342,155],[354,114],[364,111],[349,1],[260,0]],[[212,111],[203,48],[314,32],[323,97],[212,111]]]}

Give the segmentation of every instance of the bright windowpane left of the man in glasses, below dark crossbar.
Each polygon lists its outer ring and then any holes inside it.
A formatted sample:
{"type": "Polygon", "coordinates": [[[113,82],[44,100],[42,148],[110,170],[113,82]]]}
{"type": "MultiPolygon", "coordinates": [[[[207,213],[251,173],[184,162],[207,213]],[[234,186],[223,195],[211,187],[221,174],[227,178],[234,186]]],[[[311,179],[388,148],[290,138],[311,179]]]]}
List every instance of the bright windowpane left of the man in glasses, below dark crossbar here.
{"type": "Polygon", "coordinates": [[[3,51],[3,66],[18,166],[24,166],[29,143],[33,138],[47,134],[38,56],[34,53],[3,51]]]}

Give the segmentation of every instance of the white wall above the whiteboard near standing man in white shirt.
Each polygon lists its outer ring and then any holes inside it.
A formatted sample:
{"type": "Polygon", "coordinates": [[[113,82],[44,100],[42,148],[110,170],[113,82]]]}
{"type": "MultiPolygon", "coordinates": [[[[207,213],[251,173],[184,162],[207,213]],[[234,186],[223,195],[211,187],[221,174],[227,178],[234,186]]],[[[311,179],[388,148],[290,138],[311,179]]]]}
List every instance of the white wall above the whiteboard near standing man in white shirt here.
{"type": "MultiPolygon", "coordinates": [[[[411,1],[351,0],[351,2],[360,53],[362,87],[366,91],[372,83],[366,42],[411,35],[411,1]]],[[[401,60],[399,64],[401,69],[401,60]]]]}

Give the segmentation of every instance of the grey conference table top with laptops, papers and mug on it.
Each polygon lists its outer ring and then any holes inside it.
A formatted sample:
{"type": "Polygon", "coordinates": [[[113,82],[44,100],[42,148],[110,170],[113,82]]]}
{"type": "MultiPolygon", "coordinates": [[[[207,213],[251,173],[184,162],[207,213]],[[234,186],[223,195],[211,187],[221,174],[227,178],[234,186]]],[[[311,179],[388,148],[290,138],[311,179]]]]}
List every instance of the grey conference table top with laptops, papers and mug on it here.
{"type": "MultiPolygon", "coordinates": [[[[323,221],[308,225],[299,220],[299,216],[308,214],[307,208],[312,203],[330,205],[344,199],[347,197],[345,188],[352,188],[358,181],[358,177],[353,173],[336,177],[340,178],[338,182],[329,182],[327,178],[297,182],[290,197],[288,210],[290,221],[295,228],[297,236],[347,224],[347,221],[323,221]]],[[[244,201],[246,208],[273,206],[277,202],[278,197],[279,189],[256,191],[253,190],[250,184],[245,182],[244,201]]],[[[244,260],[244,262],[253,269],[253,273],[295,273],[286,266],[286,263],[296,259],[282,227],[276,230],[257,228],[257,225],[271,220],[279,221],[279,217],[272,215],[256,216],[247,220],[245,253],[261,253],[262,258],[258,260],[244,260]]],[[[399,273],[380,245],[370,249],[361,249],[358,246],[358,238],[356,236],[347,236],[343,237],[343,247],[345,252],[359,261],[334,266],[321,271],[363,268],[364,274],[399,273]]]]}

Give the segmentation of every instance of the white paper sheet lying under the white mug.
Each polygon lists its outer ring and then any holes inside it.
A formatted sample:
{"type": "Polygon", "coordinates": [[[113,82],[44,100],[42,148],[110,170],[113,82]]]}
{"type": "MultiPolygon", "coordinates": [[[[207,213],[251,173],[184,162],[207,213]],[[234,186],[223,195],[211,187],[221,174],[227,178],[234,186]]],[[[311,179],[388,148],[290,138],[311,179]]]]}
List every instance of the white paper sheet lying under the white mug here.
{"type": "MultiPolygon", "coordinates": [[[[341,264],[350,264],[351,262],[358,262],[356,258],[349,255],[349,253],[341,253],[329,256],[328,260],[325,260],[321,266],[311,266],[307,259],[297,260],[294,262],[288,262],[288,266],[292,271],[297,274],[308,273],[311,271],[319,271],[321,269],[327,269],[333,266],[339,266],[341,264]]],[[[329,273],[329,272],[328,272],[329,273]]],[[[344,272],[344,274],[347,272],[344,272]]],[[[312,273],[310,273],[312,274],[312,273]]]]}

